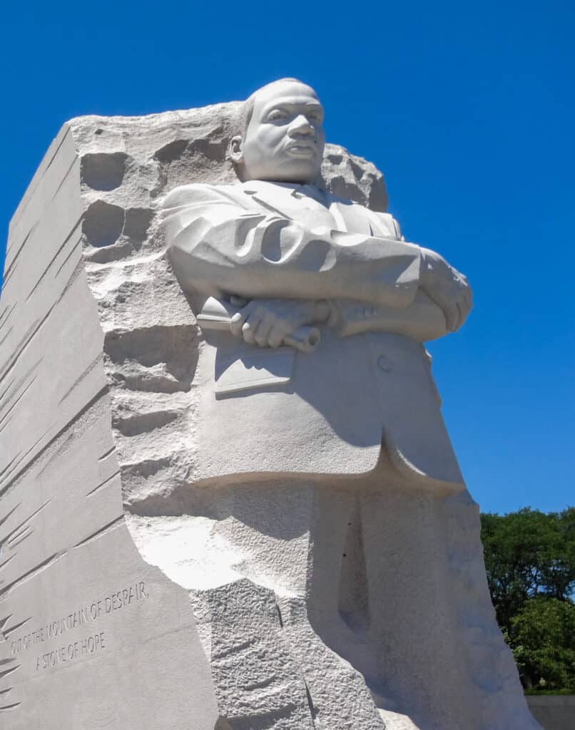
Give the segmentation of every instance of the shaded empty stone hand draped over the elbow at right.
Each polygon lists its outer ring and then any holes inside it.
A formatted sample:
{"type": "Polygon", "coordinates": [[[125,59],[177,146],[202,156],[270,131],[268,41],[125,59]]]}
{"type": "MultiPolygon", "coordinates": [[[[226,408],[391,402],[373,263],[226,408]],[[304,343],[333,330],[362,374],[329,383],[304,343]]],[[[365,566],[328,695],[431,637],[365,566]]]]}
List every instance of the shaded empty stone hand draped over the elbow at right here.
{"type": "Polygon", "coordinates": [[[449,330],[455,331],[462,326],[472,304],[467,277],[428,248],[422,249],[421,288],[443,311],[449,330]]]}

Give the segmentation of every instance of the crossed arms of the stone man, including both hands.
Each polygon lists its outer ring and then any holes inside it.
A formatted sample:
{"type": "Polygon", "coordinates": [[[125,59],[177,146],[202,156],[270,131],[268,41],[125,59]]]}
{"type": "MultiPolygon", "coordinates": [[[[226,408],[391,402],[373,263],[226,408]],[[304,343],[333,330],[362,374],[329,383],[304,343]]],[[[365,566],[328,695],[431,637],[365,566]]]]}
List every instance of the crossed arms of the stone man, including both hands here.
{"type": "MultiPolygon", "coordinates": [[[[170,258],[183,289],[249,301],[232,322],[238,337],[278,346],[292,326],[335,322],[335,310],[345,323],[352,301],[383,312],[386,331],[394,312],[407,321],[414,320],[410,310],[422,316],[433,309],[435,330],[442,313],[435,337],[465,320],[471,290],[438,254],[392,237],[308,229],[266,207],[228,186],[186,185],[164,201],[170,258]]],[[[368,328],[383,328],[371,319],[368,328]]]]}

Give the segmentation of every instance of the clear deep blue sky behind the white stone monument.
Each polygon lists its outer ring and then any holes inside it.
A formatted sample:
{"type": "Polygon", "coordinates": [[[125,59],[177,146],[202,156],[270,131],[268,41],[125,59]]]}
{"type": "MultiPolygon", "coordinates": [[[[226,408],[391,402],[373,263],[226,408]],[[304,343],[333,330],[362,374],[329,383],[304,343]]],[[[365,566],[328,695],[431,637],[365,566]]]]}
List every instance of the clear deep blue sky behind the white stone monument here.
{"type": "Polygon", "coordinates": [[[572,0],[31,0],[4,7],[0,61],[4,231],[68,118],[313,85],[328,141],[373,161],[405,237],[473,285],[468,323],[430,346],[471,493],[575,504],[572,0]]]}

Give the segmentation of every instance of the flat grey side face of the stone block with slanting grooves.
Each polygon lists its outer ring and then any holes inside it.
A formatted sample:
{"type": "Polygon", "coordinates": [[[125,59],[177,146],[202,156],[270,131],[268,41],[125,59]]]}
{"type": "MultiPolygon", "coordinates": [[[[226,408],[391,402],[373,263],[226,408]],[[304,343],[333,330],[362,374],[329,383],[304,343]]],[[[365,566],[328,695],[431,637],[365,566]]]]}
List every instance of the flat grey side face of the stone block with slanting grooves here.
{"type": "Polygon", "coordinates": [[[207,730],[217,707],[188,595],[142,561],[123,520],[81,167],[66,125],[9,230],[0,726],[207,730]]]}

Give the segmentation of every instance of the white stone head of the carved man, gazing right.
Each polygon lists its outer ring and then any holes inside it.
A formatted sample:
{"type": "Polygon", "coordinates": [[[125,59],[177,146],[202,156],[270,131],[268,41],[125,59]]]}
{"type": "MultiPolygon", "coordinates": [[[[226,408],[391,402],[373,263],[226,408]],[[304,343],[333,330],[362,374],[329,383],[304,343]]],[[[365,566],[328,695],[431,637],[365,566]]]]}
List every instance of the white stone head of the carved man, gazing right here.
{"type": "Polygon", "coordinates": [[[242,130],[229,158],[243,180],[311,183],[324,154],[324,109],[311,86],[280,79],[244,103],[242,130]]]}

